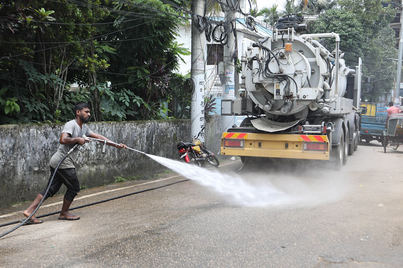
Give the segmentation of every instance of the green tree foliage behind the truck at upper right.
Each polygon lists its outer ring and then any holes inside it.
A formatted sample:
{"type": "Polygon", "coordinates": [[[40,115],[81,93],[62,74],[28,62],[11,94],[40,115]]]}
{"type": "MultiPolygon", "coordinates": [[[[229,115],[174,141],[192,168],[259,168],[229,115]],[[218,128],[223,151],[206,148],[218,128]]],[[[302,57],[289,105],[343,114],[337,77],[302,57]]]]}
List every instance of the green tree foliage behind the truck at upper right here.
{"type": "MultiPolygon", "coordinates": [[[[362,58],[363,74],[371,77],[371,91],[364,92],[362,100],[377,102],[393,88],[396,65],[387,58],[397,57],[394,31],[389,26],[394,9],[375,0],[343,0],[340,4],[340,8],[324,12],[311,29],[340,35],[346,65],[358,65],[358,57],[362,58]]],[[[334,40],[321,41],[329,51],[334,49],[334,40]]]]}

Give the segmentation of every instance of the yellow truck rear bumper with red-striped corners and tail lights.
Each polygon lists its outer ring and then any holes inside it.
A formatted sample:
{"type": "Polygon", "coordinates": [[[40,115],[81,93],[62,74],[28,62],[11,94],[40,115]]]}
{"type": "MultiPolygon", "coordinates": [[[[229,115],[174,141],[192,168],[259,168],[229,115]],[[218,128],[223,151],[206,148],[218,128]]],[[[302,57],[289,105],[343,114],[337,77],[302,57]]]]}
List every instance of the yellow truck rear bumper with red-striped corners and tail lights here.
{"type": "Polygon", "coordinates": [[[221,154],[295,159],[329,159],[326,135],[224,132],[221,154]]]}

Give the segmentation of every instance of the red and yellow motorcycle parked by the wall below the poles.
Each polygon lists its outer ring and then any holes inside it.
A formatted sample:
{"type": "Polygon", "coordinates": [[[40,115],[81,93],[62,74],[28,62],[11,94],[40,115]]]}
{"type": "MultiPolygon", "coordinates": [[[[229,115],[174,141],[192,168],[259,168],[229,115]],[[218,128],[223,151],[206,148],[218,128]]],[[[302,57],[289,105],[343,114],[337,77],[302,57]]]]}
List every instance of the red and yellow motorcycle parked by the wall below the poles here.
{"type": "Polygon", "coordinates": [[[196,164],[198,166],[209,163],[212,166],[218,167],[220,162],[217,157],[198,139],[204,129],[205,128],[200,130],[197,137],[195,137],[192,142],[178,142],[176,147],[178,148],[180,159],[183,158],[186,163],[196,164]]]}

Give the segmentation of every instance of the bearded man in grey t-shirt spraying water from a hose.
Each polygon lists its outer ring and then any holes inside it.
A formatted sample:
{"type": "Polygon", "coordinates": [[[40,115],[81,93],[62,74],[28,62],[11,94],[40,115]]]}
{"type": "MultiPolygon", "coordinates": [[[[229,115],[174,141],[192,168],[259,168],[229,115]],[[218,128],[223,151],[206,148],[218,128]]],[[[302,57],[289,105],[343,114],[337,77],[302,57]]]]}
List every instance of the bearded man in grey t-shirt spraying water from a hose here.
{"type": "MultiPolygon", "coordinates": [[[[74,107],[74,114],[75,118],[64,125],[60,135],[59,148],[50,159],[50,177],[47,187],[36,196],[32,204],[23,213],[27,218],[35,211],[43,198],[47,199],[48,197],[52,197],[57,193],[61,185],[64,184],[67,187],[67,191],[64,194],[59,220],[80,219],[80,216],[69,213],[70,205],[77,196],[77,193],[80,191],[80,183],[76,174],[76,159],[78,156],[78,150],[73,150],[67,157],[65,157],[65,155],[68,154],[68,152],[70,152],[70,150],[73,149],[76,144],[83,145],[86,141],[90,141],[89,139],[83,138],[83,135],[104,141],[110,140],[100,134],[94,133],[84,125],[90,121],[91,116],[88,104],[77,104],[74,107]],[[62,160],[63,157],[65,157],[64,160],[62,160]],[[55,173],[55,169],[61,160],[62,162],[55,173]],[[54,178],[51,180],[53,175],[54,178]],[[49,188],[48,191],[47,188],[49,188]]],[[[127,146],[122,143],[117,144],[108,142],[108,145],[119,149],[127,148],[127,146]]],[[[43,221],[37,219],[35,215],[32,215],[26,224],[39,224],[42,222],[43,221]]]]}

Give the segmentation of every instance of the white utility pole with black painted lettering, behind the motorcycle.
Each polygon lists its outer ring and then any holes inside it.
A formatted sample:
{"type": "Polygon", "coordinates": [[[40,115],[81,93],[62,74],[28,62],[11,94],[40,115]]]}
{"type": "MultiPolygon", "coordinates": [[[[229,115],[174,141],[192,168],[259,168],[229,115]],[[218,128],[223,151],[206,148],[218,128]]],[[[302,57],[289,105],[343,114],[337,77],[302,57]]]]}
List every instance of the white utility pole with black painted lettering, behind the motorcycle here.
{"type": "MultiPolygon", "coordinates": [[[[193,13],[191,26],[191,79],[194,82],[194,88],[190,103],[190,138],[196,136],[205,126],[205,47],[206,35],[199,32],[197,15],[203,16],[205,10],[205,0],[193,0],[191,4],[193,13]]],[[[201,142],[204,142],[204,132],[199,136],[201,142]]]]}

